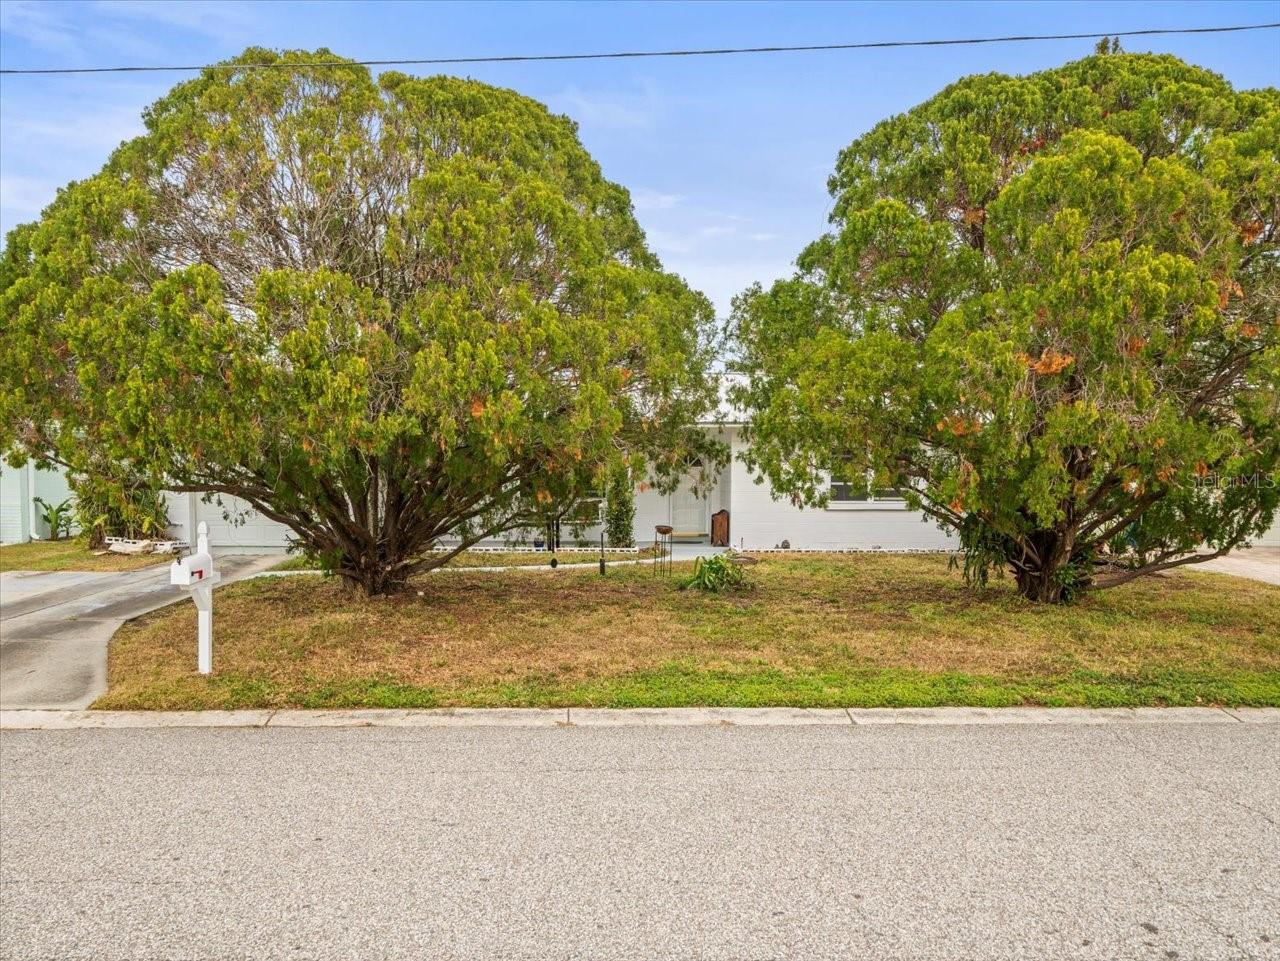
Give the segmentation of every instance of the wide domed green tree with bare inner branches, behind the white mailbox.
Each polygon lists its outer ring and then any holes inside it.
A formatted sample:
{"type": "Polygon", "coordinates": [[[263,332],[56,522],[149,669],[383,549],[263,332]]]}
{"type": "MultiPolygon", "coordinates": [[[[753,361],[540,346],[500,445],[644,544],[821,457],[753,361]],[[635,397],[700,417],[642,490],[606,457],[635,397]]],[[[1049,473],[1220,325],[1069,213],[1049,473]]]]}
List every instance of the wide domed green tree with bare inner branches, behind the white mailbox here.
{"type": "Polygon", "coordinates": [[[14,230],[0,449],[234,495],[369,592],[712,456],[708,301],[575,124],[248,50],[14,230]]]}

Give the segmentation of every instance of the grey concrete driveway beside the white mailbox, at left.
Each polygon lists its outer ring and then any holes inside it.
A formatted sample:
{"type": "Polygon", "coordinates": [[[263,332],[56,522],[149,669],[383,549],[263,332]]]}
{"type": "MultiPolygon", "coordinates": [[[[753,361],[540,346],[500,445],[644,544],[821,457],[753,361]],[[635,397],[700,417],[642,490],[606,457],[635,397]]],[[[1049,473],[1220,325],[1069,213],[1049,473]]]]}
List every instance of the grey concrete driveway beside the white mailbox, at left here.
{"type": "MultiPolygon", "coordinates": [[[[225,584],[280,559],[223,557],[218,567],[225,584]]],[[[186,596],[169,586],[168,564],[127,573],[0,572],[0,708],[87,708],[106,690],[106,645],[116,628],[177,600],[186,596]]]]}

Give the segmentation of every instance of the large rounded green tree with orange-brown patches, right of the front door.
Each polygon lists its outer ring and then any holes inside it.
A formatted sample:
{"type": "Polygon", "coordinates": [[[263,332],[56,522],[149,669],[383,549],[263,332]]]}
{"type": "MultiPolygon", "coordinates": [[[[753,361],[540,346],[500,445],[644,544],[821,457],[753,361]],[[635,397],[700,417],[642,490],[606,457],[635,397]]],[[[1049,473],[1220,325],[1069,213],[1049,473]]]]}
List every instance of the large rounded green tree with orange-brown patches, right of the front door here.
{"type": "Polygon", "coordinates": [[[1110,50],[876,125],[831,233],[736,303],[750,462],[801,503],[906,488],[1036,600],[1244,543],[1277,499],[1277,150],[1276,90],[1110,50]]]}

